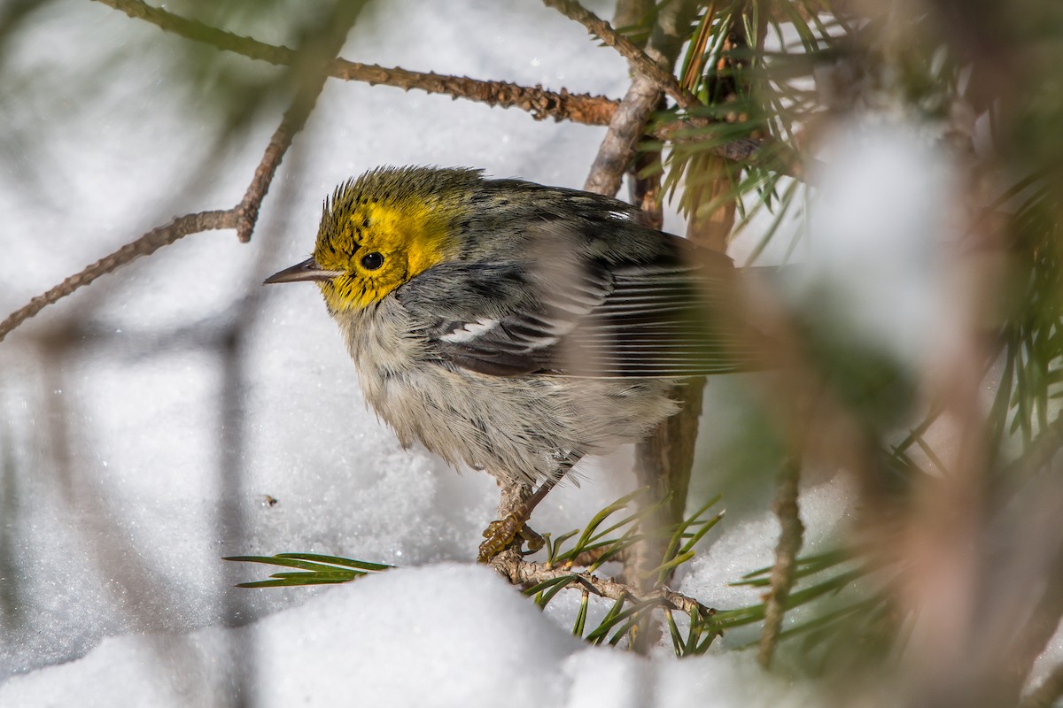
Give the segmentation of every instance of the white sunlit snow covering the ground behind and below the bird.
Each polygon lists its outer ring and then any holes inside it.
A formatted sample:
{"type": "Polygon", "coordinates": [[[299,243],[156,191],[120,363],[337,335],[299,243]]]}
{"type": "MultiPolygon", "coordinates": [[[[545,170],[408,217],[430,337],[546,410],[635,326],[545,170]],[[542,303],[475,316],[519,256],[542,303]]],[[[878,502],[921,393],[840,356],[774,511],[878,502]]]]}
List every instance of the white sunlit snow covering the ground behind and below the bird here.
{"type": "MultiPolygon", "coordinates": [[[[619,56],[537,3],[379,6],[343,56],[626,89],[619,56]]],[[[172,214],[240,198],[277,113],[217,154],[209,103],[168,90],[183,48],[74,0],[16,37],[10,66],[43,90],[4,108],[21,137],[0,171],[0,313],[172,214]],[[108,80],[94,81],[107,57],[108,80]]],[[[578,187],[603,134],[330,81],[251,244],[188,237],[0,344],[0,706],[808,705],[810,688],[764,674],[748,652],[677,662],[670,649],[588,647],[563,601],[540,612],[475,566],[493,481],[402,450],[366,410],[317,290],[259,286],[305,258],[321,200],[350,176],[461,165],[578,187]],[[289,551],[402,568],[327,589],[246,590],[232,586],[268,570],[220,559],[289,551]]],[[[668,227],[681,224],[672,215],[668,227]]],[[[710,403],[735,385],[710,385],[710,403]]],[[[721,445],[726,417],[709,407],[716,439],[704,449],[721,445]]],[[[629,450],[585,465],[578,488],[540,505],[536,528],[585,523],[630,490],[629,465],[629,450]]],[[[678,589],[710,605],[756,601],[728,583],[772,557],[762,482],[740,485],[744,513],[729,514],[678,589]]],[[[693,488],[693,504],[728,491],[711,478],[693,488]]],[[[848,498],[838,480],[808,490],[810,550],[844,525],[848,498]]]]}

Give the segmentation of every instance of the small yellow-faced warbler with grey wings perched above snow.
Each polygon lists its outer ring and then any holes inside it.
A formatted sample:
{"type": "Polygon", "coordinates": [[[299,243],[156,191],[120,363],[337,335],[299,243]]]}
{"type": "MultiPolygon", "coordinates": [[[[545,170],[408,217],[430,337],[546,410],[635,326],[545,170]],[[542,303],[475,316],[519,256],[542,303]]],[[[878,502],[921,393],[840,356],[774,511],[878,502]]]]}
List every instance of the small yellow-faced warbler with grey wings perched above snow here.
{"type": "Polygon", "coordinates": [[[756,364],[726,301],[732,275],[726,256],[612,198],[381,168],[340,185],[314,256],[266,282],[318,283],[404,446],[541,485],[485,532],[486,559],[580,457],[674,413],[682,378],[756,364]]]}

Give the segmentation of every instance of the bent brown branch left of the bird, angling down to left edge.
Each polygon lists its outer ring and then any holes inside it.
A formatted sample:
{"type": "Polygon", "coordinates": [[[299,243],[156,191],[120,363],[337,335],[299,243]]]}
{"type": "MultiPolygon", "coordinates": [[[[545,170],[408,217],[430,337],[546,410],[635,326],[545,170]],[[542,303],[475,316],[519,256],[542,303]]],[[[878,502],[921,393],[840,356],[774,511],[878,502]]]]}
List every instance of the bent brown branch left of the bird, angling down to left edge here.
{"type": "MultiPolygon", "coordinates": [[[[129,4],[126,0],[100,0],[129,4]]],[[[142,3],[147,10],[153,10],[142,3]]],[[[327,27],[331,28],[325,34],[325,41],[309,41],[311,46],[305,54],[298,54],[293,62],[293,70],[308,73],[311,77],[300,83],[300,87],[292,99],[291,105],[284,114],[281,125],[270,138],[269,145],[255,169],[255,174],[248,186],[243,200],[232,209],[220,211],[200,211],[197,213],[179,217],[166,226],[154,228],[136,241],[128,243],[113,254],[92,263],[81,273],[70,276],[60,284],[31,299],[26,306],[19,308],[0,323],[0,341],[23,322],[33,317],[45,307],[53,305],[80,288],[89,284],[101,275],[111,273],[122,265],[133,262],[141,256],[149,256],[163,246],[167,246],[189,234],[201,231],[235,228],[240,241],[247,242],[251,239],[255,223],[258,220],[258,209],[263,198],[269,190],[276,168],[281,159],[291,145],[294,135],[302,129],[307,117],[314,109],[317,97],[324,87],[325,74],[323,66],[330,58],[335,56],[340,50],[347,33],[358,16],[364,0],[349,2],[338,0],[333,16],[328,19],[327,27]]],[[[134,15],[135,16],[135,15],[134,15]]]]}

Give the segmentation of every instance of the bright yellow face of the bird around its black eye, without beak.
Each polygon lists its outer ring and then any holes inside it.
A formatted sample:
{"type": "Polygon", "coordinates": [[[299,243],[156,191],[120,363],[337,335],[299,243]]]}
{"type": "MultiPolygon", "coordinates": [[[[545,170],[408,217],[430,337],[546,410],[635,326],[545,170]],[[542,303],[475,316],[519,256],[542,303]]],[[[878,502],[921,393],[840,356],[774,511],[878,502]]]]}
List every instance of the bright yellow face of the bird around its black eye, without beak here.
{"type": "Polygon", "coordinates": [[[361,310],[451,257],[456,210],[438,195],[340,186],[325,205],[314,260],[340,273],[318,284],[333,312],[361,310]]]}

